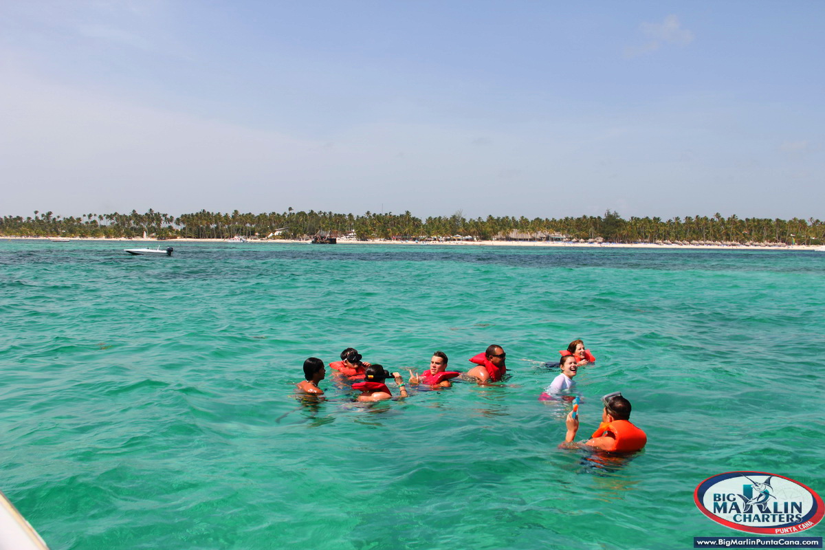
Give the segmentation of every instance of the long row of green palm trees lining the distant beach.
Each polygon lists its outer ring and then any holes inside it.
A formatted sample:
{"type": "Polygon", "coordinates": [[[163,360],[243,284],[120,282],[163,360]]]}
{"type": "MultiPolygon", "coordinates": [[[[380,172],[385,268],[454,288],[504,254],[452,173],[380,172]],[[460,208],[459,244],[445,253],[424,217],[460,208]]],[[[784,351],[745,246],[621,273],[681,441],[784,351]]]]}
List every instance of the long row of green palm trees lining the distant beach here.
{"type": "Polygon", "coordinates": [[[139,214],[82,214],[62,217],[35,210],[34,216],[4,216],[0,235],[7,237],[141,237],[158,238],[285,238],[305,239],[318,232],[338,235],[355,233],[361,240],[375,238],[472,237],[477,240],[578,240],[607,242],[735,242],[820,245],[825,226],[818,219],[740,219],[735,214],[724,218],[686,216],[623,219],[607,210],[602,216],[563,219],[527,219],[524,216],[464,218],[461,211],[450,216],[417,218],[403,214],[337,214],[291,207],[283,213],[268,214],[208,212],[200,210],[178,217],[153,209],[139,214]]]}

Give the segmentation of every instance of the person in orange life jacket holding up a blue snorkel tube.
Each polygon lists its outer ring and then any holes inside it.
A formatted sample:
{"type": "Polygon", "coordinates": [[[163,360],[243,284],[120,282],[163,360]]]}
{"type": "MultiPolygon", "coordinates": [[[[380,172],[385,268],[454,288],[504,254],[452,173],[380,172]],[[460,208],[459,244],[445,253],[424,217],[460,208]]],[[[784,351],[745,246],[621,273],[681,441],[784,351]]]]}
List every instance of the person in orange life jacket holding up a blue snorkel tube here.
{"type": "Polygon", "coordinates": [[[582,444],[592,449],[614,453],[631,453],[642,449],[648,443],[648,436],[630,423],[630,402],[620,392],[608,393],[601,398],[605,408],[601,411],[601,424],[581,444],[573,443],[578,430],[578,418],[573,418],[573,411],[567,417],[567,436],[561,447],[578,448],[582,444]]]}

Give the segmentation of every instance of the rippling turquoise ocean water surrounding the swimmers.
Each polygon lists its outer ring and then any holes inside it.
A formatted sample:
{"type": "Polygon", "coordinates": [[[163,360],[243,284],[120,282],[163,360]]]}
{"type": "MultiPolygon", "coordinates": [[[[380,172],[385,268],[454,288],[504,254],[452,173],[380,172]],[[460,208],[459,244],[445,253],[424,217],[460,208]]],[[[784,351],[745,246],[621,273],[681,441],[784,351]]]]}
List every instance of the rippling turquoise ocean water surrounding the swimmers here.
{"type": "Polygon", "coordinates": [[[691,548],[737,534],[706,477],[825,492],[822,252],[173,245],[0,241],[0,488],[53,549],[691,548]],[[634,458],[558,449],[542,365],[579,337],[580,439],[620,390],[634,458]],[[310,355],[491,343],[502,386],[292,393],[310,355]]]}

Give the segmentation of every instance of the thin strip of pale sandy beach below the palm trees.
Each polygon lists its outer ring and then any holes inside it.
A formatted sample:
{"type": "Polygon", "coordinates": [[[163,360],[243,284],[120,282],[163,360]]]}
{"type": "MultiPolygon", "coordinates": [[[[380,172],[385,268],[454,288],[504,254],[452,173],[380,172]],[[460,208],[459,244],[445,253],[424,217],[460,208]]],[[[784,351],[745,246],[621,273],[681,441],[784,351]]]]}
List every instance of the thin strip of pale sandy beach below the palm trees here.
{"type": "MultiPolygon", "coordinates": [[[[19,240],[19,241],[50,241],[55,237],[11,237],[0,236],[3,240],[19,240]]],[[[164,241],[158,241],[153,238],[142,237],[69,237],[69,242],[156,242],[159,244],[166,244],[174,247],[176,242],[226,242],[233,244],[279,244],[279,243],[303,243],[309,244],[309,241],[299,241],[295,239],[277,239],[277,240],[258,240],[252,239],[246,242],[227,241],[226,239],[215,238],[175,238],[164,241]]],[[[407,245],[407,246],[422,246],[422,247],[543,247],[543,248],[654,248],[654,249],[683,249],[683,250],[775,250],[775,251],[815,251],[822,247],[806,246],[806,245],[714,245],[714,244],[656,244],[653,242],[554,242],[554,241],[445,241],[445,242],[414,242],[414,241],[356,241],[356,240],[338,240],[338,244],[356,244],[356,245],[407,245]]],[[[318,247],[334,247],[337,245],[316,245],[318,247]]]]}

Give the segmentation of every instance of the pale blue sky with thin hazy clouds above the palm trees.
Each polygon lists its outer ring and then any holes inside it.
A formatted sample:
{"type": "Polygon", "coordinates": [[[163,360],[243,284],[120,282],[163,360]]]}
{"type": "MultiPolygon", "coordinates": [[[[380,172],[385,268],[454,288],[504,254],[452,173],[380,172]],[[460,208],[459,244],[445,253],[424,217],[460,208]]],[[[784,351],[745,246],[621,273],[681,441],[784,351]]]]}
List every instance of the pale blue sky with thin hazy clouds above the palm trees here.
{"type": "Polygon", "coordinates": [[[0,3],[0,214],[823,218],[825,2],[0,3]]]}

